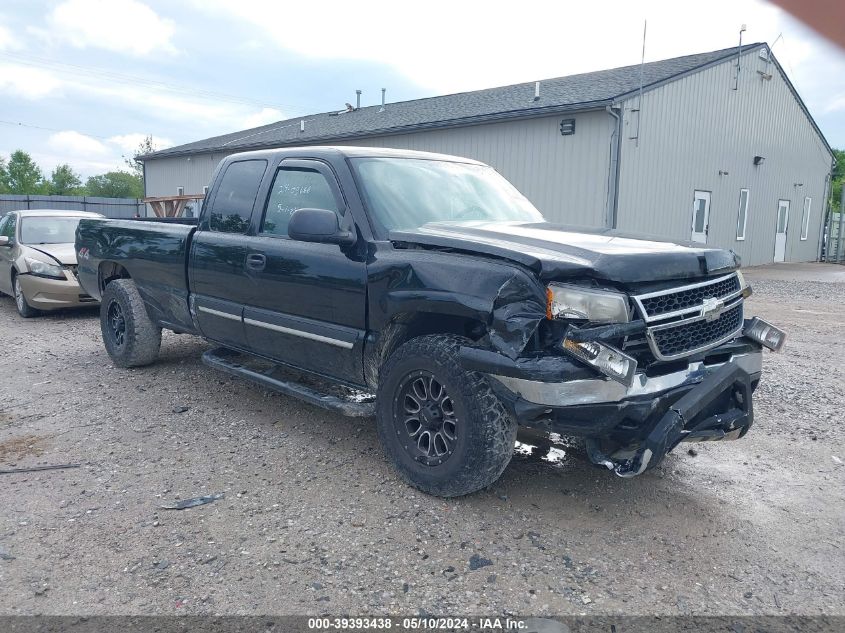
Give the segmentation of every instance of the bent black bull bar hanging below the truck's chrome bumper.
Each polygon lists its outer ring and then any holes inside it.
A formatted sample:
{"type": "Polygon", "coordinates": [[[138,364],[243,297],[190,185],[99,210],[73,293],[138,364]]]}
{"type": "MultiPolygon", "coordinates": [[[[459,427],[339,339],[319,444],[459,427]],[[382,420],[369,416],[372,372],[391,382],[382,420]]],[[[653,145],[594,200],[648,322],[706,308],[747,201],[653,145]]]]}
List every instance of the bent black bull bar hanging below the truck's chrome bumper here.
{"type": "Polygon", "coordinates": [[[709,374],[687,392],[657,422],[630,456],[603,454],[595,440],[587,441],[590,460],[613,470],[620,477],[635,477],[654,468],[680,442],[738,439],[754,420],[751,377],[728,363],[709,374]]]}

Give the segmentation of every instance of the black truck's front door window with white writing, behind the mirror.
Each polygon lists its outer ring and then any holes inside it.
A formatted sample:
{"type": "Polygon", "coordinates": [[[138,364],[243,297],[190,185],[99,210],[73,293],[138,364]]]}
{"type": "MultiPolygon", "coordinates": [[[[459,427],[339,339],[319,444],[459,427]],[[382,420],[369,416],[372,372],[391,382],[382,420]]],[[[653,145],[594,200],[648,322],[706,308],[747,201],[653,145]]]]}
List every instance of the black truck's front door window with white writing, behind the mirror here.
{"type": "Polygon", "coordinates": [[[261,232],[287,236],[290,216],[297,209],[328,209],[340,213],[332,187],[323,174],[315,169],[282,167],[273,179],[261,232]]]}

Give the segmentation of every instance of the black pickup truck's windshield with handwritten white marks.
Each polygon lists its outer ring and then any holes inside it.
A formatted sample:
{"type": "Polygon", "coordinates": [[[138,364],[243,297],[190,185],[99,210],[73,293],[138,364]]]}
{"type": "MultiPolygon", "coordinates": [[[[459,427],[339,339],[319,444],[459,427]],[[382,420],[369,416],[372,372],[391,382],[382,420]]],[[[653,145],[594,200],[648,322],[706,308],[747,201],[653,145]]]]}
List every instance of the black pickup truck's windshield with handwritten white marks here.
{"type": "Polygon", "coordinates": [[[417,158],[353,158],[370,215],[380,228],[429,222],[542,222],[543,216],[492,167],[417,158]]]}

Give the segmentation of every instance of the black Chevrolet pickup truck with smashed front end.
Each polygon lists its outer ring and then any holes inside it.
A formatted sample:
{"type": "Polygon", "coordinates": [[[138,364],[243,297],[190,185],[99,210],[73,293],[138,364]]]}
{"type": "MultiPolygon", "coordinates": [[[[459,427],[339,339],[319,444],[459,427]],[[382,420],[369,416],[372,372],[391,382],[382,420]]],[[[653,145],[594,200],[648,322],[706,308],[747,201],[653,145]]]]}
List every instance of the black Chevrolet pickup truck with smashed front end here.
{"type": "Polygon", "coordinates": [[[441,496],[495,481],[517,426],[586,438],[630,477],[681,441],[742,437],[762,347],[730,251],[549,224],[495,170],[437,154],[235,154],[194,224],[83,220],[79,279],[114,363],[162,328],[208,364],[375,415],[402,476],[441,496]]]}

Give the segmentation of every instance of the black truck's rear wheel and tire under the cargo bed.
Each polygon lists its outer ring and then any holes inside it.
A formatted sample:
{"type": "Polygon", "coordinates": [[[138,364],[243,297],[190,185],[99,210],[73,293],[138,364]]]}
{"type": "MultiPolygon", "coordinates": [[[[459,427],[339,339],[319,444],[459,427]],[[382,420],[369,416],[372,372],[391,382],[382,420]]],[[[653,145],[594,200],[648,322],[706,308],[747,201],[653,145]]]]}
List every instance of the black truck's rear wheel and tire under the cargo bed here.
{"type": "Polygon", "coordinates": [[[131,279],[106,286],[100,302],[103,344],[118,367],[141,367],[158,358],[161,328],[153,323],[131,279]]]}

